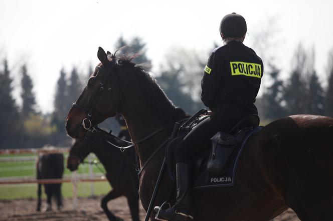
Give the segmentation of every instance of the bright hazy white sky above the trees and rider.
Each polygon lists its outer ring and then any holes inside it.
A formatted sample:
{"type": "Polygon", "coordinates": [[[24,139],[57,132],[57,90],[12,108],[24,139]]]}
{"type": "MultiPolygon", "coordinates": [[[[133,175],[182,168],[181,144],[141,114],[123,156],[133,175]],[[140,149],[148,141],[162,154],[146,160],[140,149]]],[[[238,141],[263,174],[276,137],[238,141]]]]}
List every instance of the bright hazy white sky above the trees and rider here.
{"type": "Polygon", "coordinates": [[[28,63],[38,105],[50,112],[61,67],[70,72],[76,65],[86,74],[90,63],[98,63],[98,46],[114,51],[121,34],[125,39],[140,36],[157,71],[170,47],[207,53],[214,42],[221,44],[220,20],[235,11],[247,21],[244,44],[263,58],[267,55],[255,47],[254,36],[271,25],[269,18],[275,19],[277,47],[268,55],[276,52],[284,77],[298,42],[313,46],[315,68],[324,82],[333,47],[332,9],[333,0],[0,0],[0,59],[8,58],[16,96],[19,66],[28,63]]]}

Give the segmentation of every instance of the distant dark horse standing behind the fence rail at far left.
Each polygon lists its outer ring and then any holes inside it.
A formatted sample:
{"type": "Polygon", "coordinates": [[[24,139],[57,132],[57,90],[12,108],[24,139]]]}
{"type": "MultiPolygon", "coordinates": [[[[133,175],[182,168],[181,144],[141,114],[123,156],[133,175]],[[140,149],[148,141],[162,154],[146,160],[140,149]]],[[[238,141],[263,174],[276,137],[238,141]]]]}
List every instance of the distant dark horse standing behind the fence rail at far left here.
{"type": "MultiPolygon", "coordinates": [[[[36,163],[37,179],[58,179],[64,174],[64,155],[62,153],[41,153],[36,163]]],[[[58,209],[62,206],[61,183],[44,184],[47,196],[46,210],[52,210],[52,196],[57,201],[58,209]]],[[[37,211],[41,210],[42,184],[38,183],[37,211]]]]}

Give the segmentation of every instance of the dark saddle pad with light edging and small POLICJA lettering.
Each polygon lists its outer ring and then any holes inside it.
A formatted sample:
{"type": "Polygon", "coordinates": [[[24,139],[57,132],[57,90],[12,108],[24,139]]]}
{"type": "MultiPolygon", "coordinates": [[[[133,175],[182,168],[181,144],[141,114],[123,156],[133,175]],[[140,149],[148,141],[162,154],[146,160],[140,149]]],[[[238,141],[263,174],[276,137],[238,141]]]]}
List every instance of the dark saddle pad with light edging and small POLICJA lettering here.
{"type": "Polygon", "coordinates": [[[199,175],[196,175],[194,180],[193,189],[221,187],[221,186],[234,186],[236,169],[239,157],[244,149],[247,139],[254,133],[258,132],[262,127],[256,127],[250,131],[244,140],[235,148],[235,153],[229,159],[229,169],[222,174],[213,174],[203,169],[199,175]]]}

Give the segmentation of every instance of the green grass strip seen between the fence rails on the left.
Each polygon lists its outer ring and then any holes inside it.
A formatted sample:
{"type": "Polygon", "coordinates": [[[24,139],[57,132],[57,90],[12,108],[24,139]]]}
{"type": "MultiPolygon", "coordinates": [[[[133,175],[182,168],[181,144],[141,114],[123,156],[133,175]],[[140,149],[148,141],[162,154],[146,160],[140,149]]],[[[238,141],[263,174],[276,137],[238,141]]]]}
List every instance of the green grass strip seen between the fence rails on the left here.
{"type": "MultiPolygon", "coordinates": [[[[35,154],[4,154],[0,155],[2,157],[36,157],[35,154]]],[[[96,157],[93,155],[92,157],[96,157]]],[[[65,154],[65,159],[67,159],[67,154],[65,154]]],[[[29,161],[0,161],[0,178],[11,178],[11,177],[36,177],[36,165],[35,160],[29,161]]],[[[66,160],[65,160],[66,163],[66,160]]],[[[104,173],[103,165],[99,164],[99,168],[104,173]]],[[[93,171],[95,175],[103,175],[103,173],[93,165],[93,171]]],[[[89,165],[81,164],[78,170],[79,174],[89,173],[89,165]]],[[[71,171],[66,168],[65,165],[65,176],[71,176],[71,171]]],[[[108,181],[93,182],[94,195],[104,195],[111,190],[108,181]]],[[[63,183],[62,184],[62,194],[64,197],[72,197],[73,195],[73,184],[63,183]]],[[[91,183],[90,182],[79,182],[78,183],[78,196],[90,196],[91,194],[91,183]]],[[[37,197],[37,183],[31,184],[0,184],[0,199],[17,199],[17,198],[36,198],[37,197]]],[[[43,190],[43,197],[45,197],[43,190]]]]}

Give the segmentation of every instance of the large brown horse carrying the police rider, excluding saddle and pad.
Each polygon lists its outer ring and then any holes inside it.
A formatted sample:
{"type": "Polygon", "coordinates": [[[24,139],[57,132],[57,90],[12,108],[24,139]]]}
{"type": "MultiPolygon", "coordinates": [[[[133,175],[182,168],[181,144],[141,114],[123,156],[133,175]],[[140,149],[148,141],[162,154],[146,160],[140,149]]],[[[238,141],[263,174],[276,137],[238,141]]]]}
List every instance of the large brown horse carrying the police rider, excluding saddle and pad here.
{"type": "MultiPolygon", "coordinates": [[[[136,143],[139,195],[147,210],[165,155],[159,146],[186,113],[130,57],[105,53],[101,47],[97,57],[101,62],[69,110],[66,130],[72,137],[83,137],[91,126],[122,114],[136,143]]],[[[193,220],[269,220],[288,207],[301,220],[331,220],[332,158],[333,118],[299,114],[277,119],[248,138],[235,186],[193,191],[193,220]]],[[[164,172],[154,205],[168,197],[172,183],[164,172]]],[[[150,218],[155,220],[154,212],[150,218]]]]}

